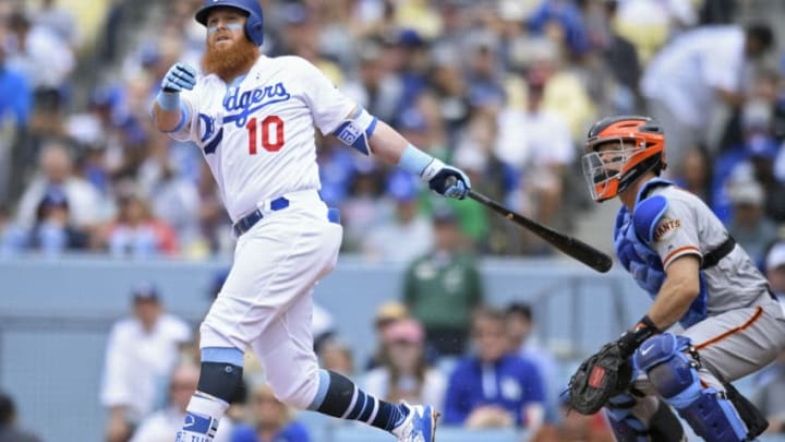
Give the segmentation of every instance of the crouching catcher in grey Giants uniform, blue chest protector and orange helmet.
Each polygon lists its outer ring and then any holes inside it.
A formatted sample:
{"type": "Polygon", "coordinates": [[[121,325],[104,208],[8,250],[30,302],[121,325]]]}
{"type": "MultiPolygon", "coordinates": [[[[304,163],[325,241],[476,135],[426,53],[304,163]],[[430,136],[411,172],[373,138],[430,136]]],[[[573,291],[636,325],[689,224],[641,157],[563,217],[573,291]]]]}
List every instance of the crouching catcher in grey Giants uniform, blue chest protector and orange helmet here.
{"type": "Polygon", "coordinates": [[[765,278],[699,198],[659,178],[666,163],[656,121],[599,121],[582,163],[595,201],[620,199],[616,254],[653,299],[617,342],[636,374],[606,405],[616,438],[680,440],[664,401],[706,441],[754,439],[756,410],[727,383],[785,348],[785,318],[765,278]],[[677,322],[684,332],[665,332],[677,322]]]}

